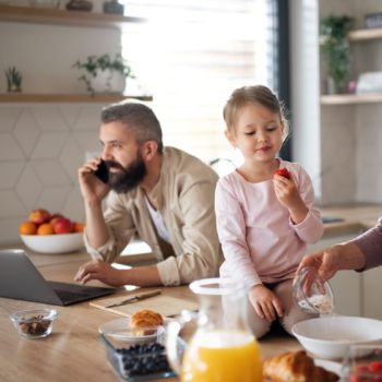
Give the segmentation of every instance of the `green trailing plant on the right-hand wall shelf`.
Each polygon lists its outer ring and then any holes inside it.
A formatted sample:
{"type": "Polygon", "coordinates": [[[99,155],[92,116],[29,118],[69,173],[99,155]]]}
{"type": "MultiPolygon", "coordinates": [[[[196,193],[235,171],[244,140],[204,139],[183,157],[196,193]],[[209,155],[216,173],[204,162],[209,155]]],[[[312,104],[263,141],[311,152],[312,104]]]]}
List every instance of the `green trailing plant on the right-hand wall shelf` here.
{"type": "Polygon", "coordinates": [[[350,73],[350,47],[348,32],[354,27],[354,19],[327,16],[320,22],[321,51],[326,59],[330,80],[333,81],[334,92],[344,92],[346,80],[350,73]]]}

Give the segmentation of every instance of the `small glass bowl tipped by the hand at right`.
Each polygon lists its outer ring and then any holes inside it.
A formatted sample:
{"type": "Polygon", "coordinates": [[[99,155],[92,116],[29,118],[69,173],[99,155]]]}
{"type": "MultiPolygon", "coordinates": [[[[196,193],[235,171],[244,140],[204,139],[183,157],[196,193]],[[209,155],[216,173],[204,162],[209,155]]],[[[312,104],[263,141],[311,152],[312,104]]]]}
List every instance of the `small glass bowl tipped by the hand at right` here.
{"type": "Polygon", "coordinates": [[[296,303],[306,312],[326,315],[334,311],[332,288],[314,267],[301,270],[294,280],[293,295],[296,303]]]}

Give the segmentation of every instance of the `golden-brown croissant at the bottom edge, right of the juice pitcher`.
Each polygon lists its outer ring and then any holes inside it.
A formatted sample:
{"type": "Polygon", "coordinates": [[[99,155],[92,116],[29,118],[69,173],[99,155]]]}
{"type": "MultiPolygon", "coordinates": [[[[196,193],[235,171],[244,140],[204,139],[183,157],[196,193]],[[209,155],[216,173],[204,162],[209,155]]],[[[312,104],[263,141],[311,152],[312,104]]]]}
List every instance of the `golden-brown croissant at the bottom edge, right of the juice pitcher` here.
{"type": "Polygon", "coordinates": [[[273,382],[335,382],[338,375],[314,365],[306,351],[285,353],[264,361],[263,375],[273,382]]]}

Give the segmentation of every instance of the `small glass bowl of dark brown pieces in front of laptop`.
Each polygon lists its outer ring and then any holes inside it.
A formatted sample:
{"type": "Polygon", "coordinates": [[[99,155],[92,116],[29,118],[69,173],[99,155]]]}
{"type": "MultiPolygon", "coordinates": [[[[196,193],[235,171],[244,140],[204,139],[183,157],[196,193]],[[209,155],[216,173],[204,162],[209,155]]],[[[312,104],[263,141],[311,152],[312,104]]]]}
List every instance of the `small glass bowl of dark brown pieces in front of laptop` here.
{"type": "Polygon", "coordinates": [[[53,329],[53,321],[57,319],[56,309],[33,309],[14,312],[10,315],[14,327],[23,338],[44,338],[53,329]]]}

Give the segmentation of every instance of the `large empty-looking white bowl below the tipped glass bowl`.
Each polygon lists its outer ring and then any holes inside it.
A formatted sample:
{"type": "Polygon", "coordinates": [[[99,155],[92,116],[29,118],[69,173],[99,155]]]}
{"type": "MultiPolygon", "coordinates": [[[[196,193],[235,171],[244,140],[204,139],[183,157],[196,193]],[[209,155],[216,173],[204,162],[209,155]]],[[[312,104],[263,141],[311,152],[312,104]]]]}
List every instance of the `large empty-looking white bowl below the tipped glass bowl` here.
{"type": "Polygon", "coordinates": [[[360,317],[323,317],[298,322],[291,332],[312,355],[338,359],[346,355],[350,345],[382,342],[382,321],[360,317]]]}

